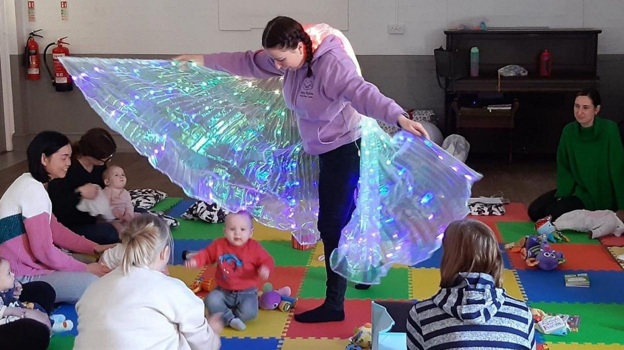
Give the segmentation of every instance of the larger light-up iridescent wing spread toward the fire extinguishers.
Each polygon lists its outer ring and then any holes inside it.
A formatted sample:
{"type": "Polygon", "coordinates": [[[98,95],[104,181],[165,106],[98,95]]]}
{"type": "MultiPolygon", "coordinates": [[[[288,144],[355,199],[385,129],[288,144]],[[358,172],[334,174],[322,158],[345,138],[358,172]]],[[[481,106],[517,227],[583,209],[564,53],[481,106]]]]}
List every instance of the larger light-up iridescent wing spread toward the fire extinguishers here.
{"type": "Polygon", "coordinates": [[[64,57],[87,102],[188,196],[316,242],[318,162],[303,152],[281,78],[165,60],[64,57]]]}

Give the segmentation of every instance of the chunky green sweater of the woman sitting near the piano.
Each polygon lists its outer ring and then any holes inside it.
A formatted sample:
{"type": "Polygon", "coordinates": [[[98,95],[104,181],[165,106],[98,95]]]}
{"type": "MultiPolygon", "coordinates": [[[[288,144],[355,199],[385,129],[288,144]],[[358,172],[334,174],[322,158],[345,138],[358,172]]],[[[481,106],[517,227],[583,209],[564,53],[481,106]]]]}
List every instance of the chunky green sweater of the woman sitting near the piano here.
{"type": "Polygon", "coordinates": [[[577,196],[587,210],[624,209],[624,148],[618,126],[596,117],[563,128],[557,149],[557,197],[577,196]]]}

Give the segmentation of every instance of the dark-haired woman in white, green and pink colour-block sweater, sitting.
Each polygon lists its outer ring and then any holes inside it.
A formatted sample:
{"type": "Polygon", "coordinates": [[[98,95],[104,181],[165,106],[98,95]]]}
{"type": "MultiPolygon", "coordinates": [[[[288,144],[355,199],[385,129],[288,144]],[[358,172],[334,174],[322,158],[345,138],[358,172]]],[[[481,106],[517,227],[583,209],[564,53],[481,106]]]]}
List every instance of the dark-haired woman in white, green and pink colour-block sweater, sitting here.
{"type": "Polygon", "coordinates": [[[0,198],[0,257],[9,261],[17,281],[45,281],[56,291],[57,302],[76,303],[109,269],[79,262],[57,247],[94,254],[109,246],[74,234],[52,214],[45,186],[67,174],[72,154],[67,136],[42,131],[26,154],[29,172],[17,177],[0,198]]]}

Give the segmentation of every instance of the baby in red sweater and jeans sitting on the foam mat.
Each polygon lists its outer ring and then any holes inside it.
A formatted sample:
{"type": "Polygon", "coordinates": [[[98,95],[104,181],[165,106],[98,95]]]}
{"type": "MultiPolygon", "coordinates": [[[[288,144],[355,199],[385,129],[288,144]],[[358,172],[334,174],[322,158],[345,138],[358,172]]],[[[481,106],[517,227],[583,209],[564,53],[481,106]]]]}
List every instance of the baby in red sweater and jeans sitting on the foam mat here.
{"type": "Polygon", "coordinates": [[[223,313],[223,324],[242,331],[245,321],[258,316],[258,278],[268,279],[275,262],[257,240],[246,211],[225,218],[225,238],[215,239],[185,262],[187,268],[217,263],[217,288],[204,303],[208,312],[223,313]]]}

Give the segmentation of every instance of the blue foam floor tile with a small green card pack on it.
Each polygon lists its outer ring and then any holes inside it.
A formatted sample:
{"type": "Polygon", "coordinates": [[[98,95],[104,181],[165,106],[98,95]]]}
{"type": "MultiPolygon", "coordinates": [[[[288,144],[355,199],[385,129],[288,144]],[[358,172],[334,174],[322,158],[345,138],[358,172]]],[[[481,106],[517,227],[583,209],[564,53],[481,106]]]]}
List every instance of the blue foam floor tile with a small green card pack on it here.
{"type": "Polygon", "coordinates": [[[517,270],[529,301],[546,303],[624,303],[621,271],[517,270]],[[567,287],[563,275],[587,273],[590,286],[567,287]]]}

